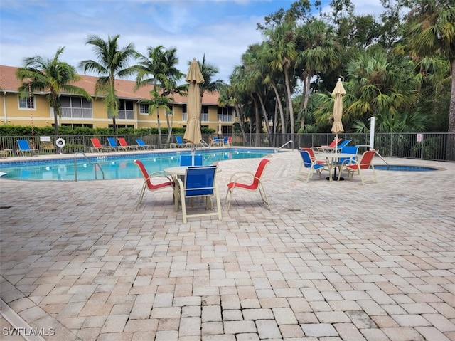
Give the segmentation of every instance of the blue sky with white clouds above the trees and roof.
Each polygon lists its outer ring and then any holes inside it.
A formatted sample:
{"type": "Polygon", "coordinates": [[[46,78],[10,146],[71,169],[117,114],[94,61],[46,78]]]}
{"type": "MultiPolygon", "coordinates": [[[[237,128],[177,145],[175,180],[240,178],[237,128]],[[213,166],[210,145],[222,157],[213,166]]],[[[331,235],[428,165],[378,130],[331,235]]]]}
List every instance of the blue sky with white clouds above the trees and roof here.
{"type": "MultiPolygon", "coordinates": [[[[0,0],[0,65],[23,66],[32,56],[53,58],[76,68],[97,60],[87,36],[120,35],[119,45],[134,43],[176,48],[177,68],[188,71],[193,58],[215,65],[215,79],[229,81],[248,46],[263,41],[257,23],[294,0],[0,0]]],[[[323,0],[323,4],[328,0],[323,0]]],[[[378,14],[380,0],[353,0],[355,12],[378,14]]],[[[82,70],[77,68],[82,74],[82,70]]],[[[214,79],[214,80],[215,80],[214,79]]]]}

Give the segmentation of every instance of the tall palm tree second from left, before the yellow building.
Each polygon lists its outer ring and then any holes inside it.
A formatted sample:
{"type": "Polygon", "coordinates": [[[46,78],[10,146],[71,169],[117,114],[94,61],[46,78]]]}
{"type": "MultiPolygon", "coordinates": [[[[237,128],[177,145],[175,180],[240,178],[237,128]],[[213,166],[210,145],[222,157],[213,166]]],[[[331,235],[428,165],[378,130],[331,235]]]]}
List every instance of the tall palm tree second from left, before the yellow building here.
{"type": "Polygon", "coordinates": [[[84,72],[94,72],[100,75],[95,83],[95,95],[104,96],[103,102],[107,109],[108,117],[112,117],[114,135],[117,135],[116,118],[119,115],[120,100],[115,90],[115,78],[127,78],[136,73],[134,66],[129,67],[130,58],[136,56],[134,44],[129,43],[127,46],[119,48],[119,38],[117,36],[108,36],[107,41],[100,36],[90,35],[86,44],[93,46],[93,52],[98,61],[86,60],[80,62],[80,67],[84,72]]]}

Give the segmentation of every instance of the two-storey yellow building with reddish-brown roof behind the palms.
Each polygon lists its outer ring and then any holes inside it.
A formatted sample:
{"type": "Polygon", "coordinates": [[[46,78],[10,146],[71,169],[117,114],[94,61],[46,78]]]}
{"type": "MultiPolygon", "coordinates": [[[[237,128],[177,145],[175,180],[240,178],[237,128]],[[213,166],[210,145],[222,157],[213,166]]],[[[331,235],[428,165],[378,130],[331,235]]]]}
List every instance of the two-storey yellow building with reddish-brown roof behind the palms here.
{"type": "MultiPolygon", "coordinates": [[[[21,85],[16,78],[17,68],[0,65],[0,124],[3,125],[33,125],[43,127],[53,125],[53,108],[45,100],[47,93],[34,93],[31,98],[21,98],[18,88],[21,85]]],[[[101,98],[95,98],[95,82],[97,77],[81,75],[82,80],[74,85],[83,88],[92,95],[92,102],[77,95],[61,93],[62,116],[60,125],[73,127],[112,127],[112,118],[107,116],[107,110],[101,98]]],[[[115,88],[120,98],[117,127],[157,127],[156,112],[149,115],[149,106],[139,103],[150,98],[151,86],[134,90],[136,83],[132,80],[116,80],[115,88]]],[[[221,120],[223,135],[232,135],[232,125],[235,122],[232,107],[218,106],[218,93],[205,93],[202,98],[202,127],[210,127],[218,132],[218,122],[221,120]]],[[[186,101],[182,95],[174,96],[172,127],[186,127],[186,101]]],[[[167,127],[164,110],[159,111],[161,127],[167,127]]]]}

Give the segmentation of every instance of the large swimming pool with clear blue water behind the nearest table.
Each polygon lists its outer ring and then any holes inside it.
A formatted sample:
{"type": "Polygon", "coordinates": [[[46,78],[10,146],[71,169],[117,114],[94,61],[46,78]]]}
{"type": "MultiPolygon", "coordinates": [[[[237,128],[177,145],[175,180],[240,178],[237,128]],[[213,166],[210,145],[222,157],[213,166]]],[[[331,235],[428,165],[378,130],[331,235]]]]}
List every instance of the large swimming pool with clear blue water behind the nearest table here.
{"type": "MultiPolygon", "coordinates": [[[[203,156],[203,165],[207,166],[228,159],[255,159],[274,153],[273,149],[198,150],[203,156]]],[[[167,167],[180,165],[181,155],[191,152],[147,152],[131,154],[106,154],[97,157],[77,157],[77,180],[95,180],[95,162],[100,164],[105,179],[133,179],[142,177],[139,168],[133,163],[140,159],[147,171],[158,172],[167,167]],[[90,161],[90,162],[89,162],[90,161]]],[[[62,159],[36,159],[13,162],[1,162],[0,172],[6,173],[0,179],[28,181],[75,181],[74,156],[62,159]]],[[[97,170],[97,179],[102,179],[102,172],[97,170]]]]}

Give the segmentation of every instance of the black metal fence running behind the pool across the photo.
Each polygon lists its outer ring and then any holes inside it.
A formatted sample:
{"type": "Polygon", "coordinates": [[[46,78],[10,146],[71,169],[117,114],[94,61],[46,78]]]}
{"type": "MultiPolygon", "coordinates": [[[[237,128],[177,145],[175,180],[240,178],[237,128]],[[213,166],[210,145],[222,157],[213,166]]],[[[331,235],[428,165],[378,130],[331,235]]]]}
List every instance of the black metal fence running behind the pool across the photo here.
{"type": "MultiPolygon", "coordinates": [[[[55,154],[60,149],[55,146],[58,138],[65,140],[65,147],[61,152],[73,154],[75,152],[90,152],[91,138],[96,137],[102,145],[109,146],[107,137],[124,137],[128,145],[137,145],[136,140],[144,140],[146,145],[155,145],[156,149],[173,147],[176,142],[174,136],[168,142],[167,135],[69,135],[59,137],[42,136],[2,136],[0,137],[0,150],[9,149],[16,155],[17,140],[28,140],[31,149],[38,149],[40,154],[55,154]]],[[[203,135],[203,140],[208,142],[209,135],[203,135]]],[[[232,144],[239,147],[271,147],[284,149],[297,149],[299,147],[314,147],[328,145],[335,136],[333,134],[260,134],[257,140],[255,134],[247,134],[244,140],[242,135],[232,135],[232,144]]],[[[350,139],[350,145],[370,145],[369,134],[340,134],[343,140],[350,139]]],[[[409,159],[428,159],[437,161],[455,161],[455,134],[449,133],[377,133],[374,137],[374,147],[382,157],[405,157],[409,159]]]]}

